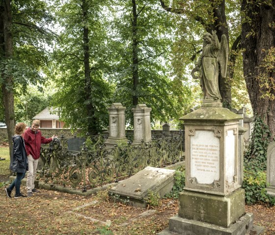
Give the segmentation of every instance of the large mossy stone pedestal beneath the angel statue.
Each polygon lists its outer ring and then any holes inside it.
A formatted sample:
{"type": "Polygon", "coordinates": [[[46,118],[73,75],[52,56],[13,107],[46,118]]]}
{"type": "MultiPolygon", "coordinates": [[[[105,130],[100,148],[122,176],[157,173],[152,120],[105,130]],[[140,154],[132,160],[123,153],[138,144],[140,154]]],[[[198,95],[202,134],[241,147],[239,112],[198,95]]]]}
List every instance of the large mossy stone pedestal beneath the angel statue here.
{"type": "Polygon", "coordinates": [[[169,231],[183,235],[249,233],[253,215],[245,214],[245,190],[238,180],[240,119],[217,100],[204,100],[201,108],[180,118],[185,125],[186,180],[169,231]]]}

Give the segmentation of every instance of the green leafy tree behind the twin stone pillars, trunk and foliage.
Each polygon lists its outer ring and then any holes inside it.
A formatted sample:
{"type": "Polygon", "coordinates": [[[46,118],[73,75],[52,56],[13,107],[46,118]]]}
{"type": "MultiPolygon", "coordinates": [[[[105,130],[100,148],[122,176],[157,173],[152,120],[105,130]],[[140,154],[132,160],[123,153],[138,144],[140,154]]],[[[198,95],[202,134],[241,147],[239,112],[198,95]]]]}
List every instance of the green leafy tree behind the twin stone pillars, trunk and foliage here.
{"type": "Polygon", "coordinates": [[[173,27],[160,10],[154,0],[116,1],[113,6],[111,29],[118,61],[114,100],[127,106],[128,122],[137,104],[152,107],[153,120],[167,121],[192,103],[189,85],[171,79],[168,35],[173,27]]]}

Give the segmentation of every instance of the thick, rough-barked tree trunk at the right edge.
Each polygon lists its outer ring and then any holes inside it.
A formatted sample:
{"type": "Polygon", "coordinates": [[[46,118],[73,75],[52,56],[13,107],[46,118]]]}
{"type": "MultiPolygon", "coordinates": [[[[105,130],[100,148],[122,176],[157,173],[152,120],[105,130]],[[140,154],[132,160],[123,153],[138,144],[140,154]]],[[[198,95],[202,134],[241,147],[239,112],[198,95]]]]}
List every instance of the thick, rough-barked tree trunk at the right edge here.
{"type": "Polygon", "coordinates": [[[243,0],[242,11],[250,19],[242,25],[242,46],[244,76],[253,113],[264,120],[274,137],[275,0],[268,2],[273,6],[243,0]]]}

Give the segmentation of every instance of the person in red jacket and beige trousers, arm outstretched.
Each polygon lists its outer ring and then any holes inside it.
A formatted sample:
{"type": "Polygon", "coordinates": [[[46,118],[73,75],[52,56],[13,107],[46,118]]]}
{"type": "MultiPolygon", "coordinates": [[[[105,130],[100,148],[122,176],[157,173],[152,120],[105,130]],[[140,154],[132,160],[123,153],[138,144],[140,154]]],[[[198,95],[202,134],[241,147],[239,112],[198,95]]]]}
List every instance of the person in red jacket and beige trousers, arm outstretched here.
{"type": "Polygon", "coordinates": [[[28,160],[28,173],[27,173],[27,196],[31,197],[32,193],[39,192],[38,189],[34,188],[34,180],[36,175],[36,169],[38,165],[38,159],[40,157],[40,148],[41,144],[50,143],[55,135],[52,138],[45,138],[41,135],[41,131],[39,131],[40,121],[33,120],[31,123],[31,127],[27,128],[24,133],[24,141],[27,152],[27,160],[28,160]]]}

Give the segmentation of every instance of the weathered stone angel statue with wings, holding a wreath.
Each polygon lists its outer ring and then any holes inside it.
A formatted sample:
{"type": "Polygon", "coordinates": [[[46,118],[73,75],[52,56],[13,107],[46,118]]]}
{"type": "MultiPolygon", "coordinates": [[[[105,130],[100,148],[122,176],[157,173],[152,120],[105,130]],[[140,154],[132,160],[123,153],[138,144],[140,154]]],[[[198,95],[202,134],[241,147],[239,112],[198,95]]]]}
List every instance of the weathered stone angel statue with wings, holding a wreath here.
{"type": "Polygon", "coordinates": [[[221,36],[221,41],[216,35],[216,31],[203,35],[202,53],[192,70],[193,78],[200,78],[200,85],[204,94],[204,99],[221,100],[219,91],[219,66],[221,78],[226,78],[228,61],[228,45],[226,36],[221,36]],[[194,76],[200,71],[201,76],[194,76]]]}

